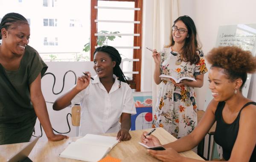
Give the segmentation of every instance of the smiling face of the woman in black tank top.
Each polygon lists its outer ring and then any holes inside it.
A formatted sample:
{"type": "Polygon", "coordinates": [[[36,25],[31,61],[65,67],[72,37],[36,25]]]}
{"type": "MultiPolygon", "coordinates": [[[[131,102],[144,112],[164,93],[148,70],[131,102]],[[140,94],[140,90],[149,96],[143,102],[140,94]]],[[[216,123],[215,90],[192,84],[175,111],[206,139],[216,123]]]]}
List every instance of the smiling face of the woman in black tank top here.
{"type": "Polygon", "coordinates": [[[212,67],[209,70],[209,89],[215,101],[227,101],[235,94],[236,81],[230,81],[224,69],[212,67]]]}

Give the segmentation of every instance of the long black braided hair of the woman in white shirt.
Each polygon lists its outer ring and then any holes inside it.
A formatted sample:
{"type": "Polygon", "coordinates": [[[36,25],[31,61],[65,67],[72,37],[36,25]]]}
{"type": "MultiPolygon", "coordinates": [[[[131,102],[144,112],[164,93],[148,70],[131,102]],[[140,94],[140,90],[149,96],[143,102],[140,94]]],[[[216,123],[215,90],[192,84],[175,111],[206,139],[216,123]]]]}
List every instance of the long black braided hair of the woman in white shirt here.
{"type": "Polygon", "coordinates": [[[113,68],[113,74],[116,75],[116,77],[118,77],[118,80],[120,81],[119,84],[121,84],[121,81],[129,84],[129,82],[125,78],[124,73],[122,72],[122,69],[119,66],[121,64],[122,58],[119,52],[113,46],[100,46],[96,48],[93,53],[93,57],[96,52],[105,52],[109,55],[112,61],[116,61],[116,66],[113,68]]]}

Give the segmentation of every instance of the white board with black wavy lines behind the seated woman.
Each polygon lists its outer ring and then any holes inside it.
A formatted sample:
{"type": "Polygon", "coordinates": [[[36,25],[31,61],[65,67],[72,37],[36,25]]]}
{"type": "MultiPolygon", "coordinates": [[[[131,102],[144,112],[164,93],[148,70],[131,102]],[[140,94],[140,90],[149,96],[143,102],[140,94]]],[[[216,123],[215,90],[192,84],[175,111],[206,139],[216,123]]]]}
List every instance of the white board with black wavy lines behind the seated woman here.
{"type": "MultiPolygon", "coordinates": [[[[57,130],[58,132],[65,133],[69,130],[67,125],[67,114],[71,113],[71,108],[67,107],[60,111],[52,110],[52,103],[54,102],[60,95],[63,95],[66,93],[70,88],[72,88],[75,83],[76,79],[83,75],[82,72],[89,71],[92,75],[96,75],[96,72],[93,69],[93,62],[45,62],[48,65],[48,69],[46,71],[47,73],[52,73],[55,75],[55,86],[52,87],[54,83],[54,77],[51,74],[44,75],[44,77],[41,79],[41,89],[42,93],[44,95],[44,99],[47,102],[47,110],[49,113],[49,118],[52,124],[52,127],[57,130]],[[71,70],[71,71],[70,71],[71,70]],[[65,75],[65,73],[67,74],[65,75]],[[63,81],[65,75],[65,81],[63,81]],[[64,82],[64,87],[63,87],[64,82]],[[63,90],[61,92],[61,89],[63,87],[63,90]],[[60,93],[61,92],[61,93],[60,93]],[[57,94],[59,93],[59,94],[57,94]]],[[[78,135],[78,127],[74,127],[72,125],[71,116],[68,116],[69,124],[70,124],[70,133],[64,134],[67,136],[77,136],[78,135]]],[[[40,139],[47,139],[44,129],[43,136],[40,139]]],[[[55,134],[58,134],[54,132],[55,134]]],[[[34,135],[34,133],[33,133],[34,135]]],[[[40,130],[40,122],[37,119],[35,124],[35,136],[41,136],[41,130],[40,130]]]]}

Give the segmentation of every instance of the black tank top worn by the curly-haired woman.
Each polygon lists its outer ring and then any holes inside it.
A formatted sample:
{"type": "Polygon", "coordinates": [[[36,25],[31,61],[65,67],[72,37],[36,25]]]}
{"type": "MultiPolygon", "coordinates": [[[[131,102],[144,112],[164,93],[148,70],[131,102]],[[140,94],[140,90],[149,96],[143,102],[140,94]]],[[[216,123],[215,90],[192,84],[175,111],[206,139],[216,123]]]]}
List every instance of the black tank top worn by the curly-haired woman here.
{"type": "MultiPolygon", "coordinates": [[[[241,110],[243,110],[243,108],[249,104],[256,105],[256,102],[248,102],[241,108],[241,110]]],[[[224,122],[222,117],[222,110],[224,106],[225,106],[224,101],[219,102],[217,109],[215,111],[215,119],[217,124],[216,124],[216,130],[214,133],[214,140],[218,145],[222,147],[223,158],[225,160],[229,160],[231,151],[233,149],[233,146],[235,145],[236,137],[239,130],[239,119],[240,119],[241,110],[239,111],[239,114],[236,117],[235,121],[231,124],[227,124],[224,122]]],[[[254,150],[250,157],[249,162],[256,162],[256,147],[254,147],[254,150]]]]}

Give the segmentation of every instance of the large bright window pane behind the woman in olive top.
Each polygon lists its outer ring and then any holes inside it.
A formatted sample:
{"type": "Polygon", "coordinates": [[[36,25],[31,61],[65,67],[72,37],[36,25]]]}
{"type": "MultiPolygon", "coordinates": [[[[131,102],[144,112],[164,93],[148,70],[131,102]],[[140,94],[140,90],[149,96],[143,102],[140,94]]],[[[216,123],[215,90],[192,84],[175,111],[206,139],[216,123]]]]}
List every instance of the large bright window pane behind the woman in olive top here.
{"type": "Polygon", "coordinates": [[[90,49],[83,50],[90,41],[90,0],[0,0],[2,4],[14,8],[0,10],[0,17],[15,10],[30,19],[29,46],[44,61],[90,61],[90,49]],[[43,13],[43,17],[38,19],[35,12],[29,12],[31,5],[25,3],[31,4],[33,11],[43,13]],[[74,27],[78,26],[76,29],[69,27],[70,19],[74,20],[74,27]]]}

